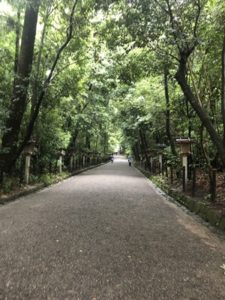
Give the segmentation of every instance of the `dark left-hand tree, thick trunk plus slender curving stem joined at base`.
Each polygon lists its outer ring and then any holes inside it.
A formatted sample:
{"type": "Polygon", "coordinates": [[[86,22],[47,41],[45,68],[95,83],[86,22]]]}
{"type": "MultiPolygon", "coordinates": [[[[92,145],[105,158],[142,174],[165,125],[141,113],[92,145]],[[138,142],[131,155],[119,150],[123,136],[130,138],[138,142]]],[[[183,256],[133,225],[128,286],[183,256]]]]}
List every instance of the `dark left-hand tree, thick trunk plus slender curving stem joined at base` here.
{"type": "Polygon", "coordinates": [[[32,2],[30,0],[30,2],[27,3],[26,13],[24,17],[24,27],[23,27],[23,36],[21,42],[20,58],[18,63],[18,74],[16,76],[16,80],[14,84],[13,100],[10,108],[10,115],[6,124],[7,130],[2,138],[3,151],[2,154],[0,155],[1,173],[9,172],[11,170],[12,166],[15,164],[17,158],[21,154],[25,145],[31,138],[34,124],[38,117],[38,113],[42,101],[44,99],[46,89],[51,82],[53,73],[59,61],[61,53],[67,47],[70,40],[72,39],[73,27],[74,27],[73,17],[74,17],[74,12],[77,3],[78,0],[75,0],[72,5],[71,14],[69,16],[69,26],[67,28],[66,39],[59,47],[56,53],[49,74],[44,81],[43,87],[41,88],[41,92],[36,101],[37,102],[36,106],[33,109],[33,113],[27,125],[25,137],[23,141],[18,145],[22,119],[27,105],[26,98],[27,98],[27,91],[30,82],[29,76],[32,67],[37,17],[38,17],[38,10],[40,6],[40,2],[37,1],[32,2]]]}

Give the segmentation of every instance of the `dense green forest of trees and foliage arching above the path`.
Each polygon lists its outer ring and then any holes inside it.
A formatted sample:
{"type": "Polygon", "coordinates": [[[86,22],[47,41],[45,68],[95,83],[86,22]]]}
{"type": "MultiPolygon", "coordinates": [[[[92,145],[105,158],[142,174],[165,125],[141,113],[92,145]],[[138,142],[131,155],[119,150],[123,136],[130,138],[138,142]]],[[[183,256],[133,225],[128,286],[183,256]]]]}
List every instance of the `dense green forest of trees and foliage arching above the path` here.
{"type": "Polygon", "coordinates": [[[223,0],[0,1],[0,173],[35,141],[37,172],[71,155],[158,144],[225,168],[223,0]]]}

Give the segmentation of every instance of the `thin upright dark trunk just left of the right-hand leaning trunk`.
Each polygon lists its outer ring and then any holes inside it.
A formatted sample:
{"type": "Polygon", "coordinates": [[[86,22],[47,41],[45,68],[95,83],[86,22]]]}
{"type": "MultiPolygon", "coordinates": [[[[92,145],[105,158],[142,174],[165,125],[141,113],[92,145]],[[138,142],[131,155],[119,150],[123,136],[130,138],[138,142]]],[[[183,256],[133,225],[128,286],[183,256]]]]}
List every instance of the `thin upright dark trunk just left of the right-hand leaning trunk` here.
{"type": "Polygon", "coordinates": [[[169,140],[171,151],[173,155],[177,155],[175,144],[171,134],[171,122],[170,122],[170,96],[169,96],[169,86],[168,86],[168,75],[169,72],[167,68],[164,68],[164,89],[165,89],[165,99],[166,99],[166,135],[169,140]]]}

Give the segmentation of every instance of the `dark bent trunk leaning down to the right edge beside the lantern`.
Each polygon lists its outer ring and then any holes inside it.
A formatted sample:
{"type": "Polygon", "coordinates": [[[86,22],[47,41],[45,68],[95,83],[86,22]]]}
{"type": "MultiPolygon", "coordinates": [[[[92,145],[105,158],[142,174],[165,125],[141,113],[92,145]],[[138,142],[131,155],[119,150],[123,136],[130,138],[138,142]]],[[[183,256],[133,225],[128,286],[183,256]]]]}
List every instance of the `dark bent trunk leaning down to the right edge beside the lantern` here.
{"type": "Polygon", "coordinates": [[[189,84],[187,82],[186,63],[187,63],[187,56],[185,56],[185,54],[181,55],[179,68],[175,75],[175,78],[176,78],[178,84],[180,85],[185,97],[188,99],[189,103],[195,110],[195,112],[198,115],[199,119],[201,120],[202,124],[208,131],[210,138],[218,151],[222,165],[225,168],[225,148],[223,146],[223,141],[220,138],[217,131],[215,130],[209,116],[207,115],[207,113],[205,112],[205,110],[203,109],[203,107],[201,106],[201,104],[199,103],[199,101],[197,100],[195,95],[193,94],[191,87],[189,86],[189,84]]]}

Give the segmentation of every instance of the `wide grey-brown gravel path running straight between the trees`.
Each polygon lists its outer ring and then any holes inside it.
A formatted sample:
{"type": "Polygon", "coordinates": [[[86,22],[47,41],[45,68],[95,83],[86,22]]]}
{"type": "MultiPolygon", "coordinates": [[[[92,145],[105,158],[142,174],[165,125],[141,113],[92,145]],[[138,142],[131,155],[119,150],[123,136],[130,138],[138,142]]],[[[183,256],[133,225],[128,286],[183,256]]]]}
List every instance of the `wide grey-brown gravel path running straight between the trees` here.
{"type": "Polygon", "coordinates": [[[123,159],[0,207],[0,299],[225,299],[224,263],[123,159]]]}

